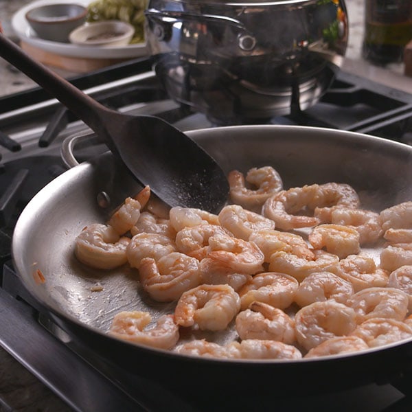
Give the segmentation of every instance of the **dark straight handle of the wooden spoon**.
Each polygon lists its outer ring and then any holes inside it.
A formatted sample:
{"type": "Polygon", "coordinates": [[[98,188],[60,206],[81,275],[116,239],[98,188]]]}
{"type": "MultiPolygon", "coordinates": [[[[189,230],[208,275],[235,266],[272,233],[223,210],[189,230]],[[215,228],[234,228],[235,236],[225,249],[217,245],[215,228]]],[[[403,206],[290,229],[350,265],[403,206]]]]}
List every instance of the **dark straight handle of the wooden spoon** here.
{"type": "Polygon", "coordinates": [[[27,56],[4,34],[0,34],[0,56],[78,115],[92,130],[98,133],[102,129],[104,115],[110,109],[90,98],[51,69],[27,56]]]}

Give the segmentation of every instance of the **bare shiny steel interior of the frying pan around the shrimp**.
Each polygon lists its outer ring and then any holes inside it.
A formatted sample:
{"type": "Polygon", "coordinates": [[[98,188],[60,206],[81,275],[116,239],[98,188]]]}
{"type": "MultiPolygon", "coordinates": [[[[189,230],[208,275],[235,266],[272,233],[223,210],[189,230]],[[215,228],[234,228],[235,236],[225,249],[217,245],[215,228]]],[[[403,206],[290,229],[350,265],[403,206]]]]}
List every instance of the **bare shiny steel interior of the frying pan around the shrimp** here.
{"type": "MultiPolygon", "coordinates": [[[[367,209],[379,210],[411,199],[412,148],[395,141],[304,126],[232,126],[187,134],[214,156],[225,172],[273,165],[283,177],[284,187],[348,183],[367,209]]],[[[58,317],[96,336],[106,334],[120,310],[147,310],[155,317],[174,310],[173,303],[148,299],[134,269],[102,272],[74,257],[74,240],[82,228],[105,222],[126,196],[139,189],[106,152],[54,179],[36,194],[16,224],[12,255],[27,289],[58,317]],[[102,192],[109,201],[105,208],[99,205],[102,192]],[[36,282],[37,271],[43,273],[44,283],[36,282]],[[96,285],[100,291],[93,291],[96,285]]],[[[229,329],[205,333],[205,337],[224,343],[233,339],[233,333],[229,329]]],[[[187,334],[186,339],[191,337],[187,334]]]]}

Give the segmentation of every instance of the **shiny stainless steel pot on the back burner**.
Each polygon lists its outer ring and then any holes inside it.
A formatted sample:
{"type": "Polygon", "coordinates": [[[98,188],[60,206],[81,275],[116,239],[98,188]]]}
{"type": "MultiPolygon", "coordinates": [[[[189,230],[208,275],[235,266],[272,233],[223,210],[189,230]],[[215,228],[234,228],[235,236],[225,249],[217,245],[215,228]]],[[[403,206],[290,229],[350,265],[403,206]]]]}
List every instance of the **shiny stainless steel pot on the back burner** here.
{"type": "Polygon", "coordinates": [[[165,89],[219,124],[312,106],[347,46],[343,0],[150,0],[146,21],[165,89]]]}

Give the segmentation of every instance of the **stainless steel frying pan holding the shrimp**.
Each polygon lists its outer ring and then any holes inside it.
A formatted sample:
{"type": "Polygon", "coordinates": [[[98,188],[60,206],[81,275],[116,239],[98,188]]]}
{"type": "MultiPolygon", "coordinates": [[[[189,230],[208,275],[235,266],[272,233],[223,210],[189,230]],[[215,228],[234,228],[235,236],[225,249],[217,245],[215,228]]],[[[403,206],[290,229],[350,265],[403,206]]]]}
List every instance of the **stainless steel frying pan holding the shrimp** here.
{"type": "MultiPolygon", "coordinates": [[[[273,165],[286,188],[331,181],[349,183],[368,209],[380,210],[412,199],[412,148],[394,141],[301,126],[231,126],[187,134],[225,172],[273,165]]],[[[320,387],[327,390],[392,382],[409,374],[412,340],[316,360],[222,361],[152,350],[107,336],[111,320],[120,310],[149,310],[155,316],[173,310],[173,304],[154,303],[140,290],[136,271],[94,270],[73,255],[73,241],[82,228],[104,222],[126,196],[139,189],[107,152],[49,183],[27,205],[16,224],[12,243],[16,271],[43,310],[69,335],[76,334],[109,362],[177,391],[207,387],[226,393],[238,385],[256,382],[257,391],[303,393],[320,387]],[[109,200],[106,207],[98,202],[103,192],[109,200]],[[38,270],[45,277],[44,283],[38,282],[38,270]],[[102,286],[102,290],[93,291],[95,286],[102,286]],[[297,376],[305,381],[299,389],[291,385],[297,376]]],[[[228,339],[227,334],[212,337],[216,341],[228,339]]]]}

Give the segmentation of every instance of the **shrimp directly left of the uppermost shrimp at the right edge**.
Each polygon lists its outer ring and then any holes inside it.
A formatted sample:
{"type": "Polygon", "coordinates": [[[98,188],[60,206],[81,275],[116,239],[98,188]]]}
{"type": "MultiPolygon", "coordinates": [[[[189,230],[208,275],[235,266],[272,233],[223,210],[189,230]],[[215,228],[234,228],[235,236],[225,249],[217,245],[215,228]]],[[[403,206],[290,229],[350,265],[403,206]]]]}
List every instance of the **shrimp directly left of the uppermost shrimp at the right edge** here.
{"type": "Polygon", "coordinates": [[[332,210],[331,223],[353,227],[359,233],[361,244],[373,244],[382,237],[379,214],[375,211],[337,207],[332,210]]]}

